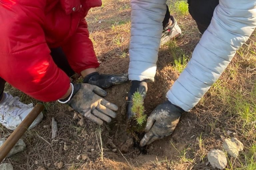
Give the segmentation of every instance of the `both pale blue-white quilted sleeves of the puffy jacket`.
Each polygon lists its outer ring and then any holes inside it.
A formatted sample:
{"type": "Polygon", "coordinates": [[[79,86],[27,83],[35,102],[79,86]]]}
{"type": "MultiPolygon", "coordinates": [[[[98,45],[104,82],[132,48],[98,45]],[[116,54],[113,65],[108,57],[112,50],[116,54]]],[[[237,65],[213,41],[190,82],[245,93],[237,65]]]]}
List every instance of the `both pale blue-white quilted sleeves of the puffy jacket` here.
{"type": "MultiPolygon", "coordinates": [[[[193,1],[193,0],[192,0],[193,1]]],[[[154,80],[166,0],[131,0],[129,80],[154,80]]],[[[256,27],[256,0],[219,0],[192,58],[166,97],[192,109],[256,27]]]]}

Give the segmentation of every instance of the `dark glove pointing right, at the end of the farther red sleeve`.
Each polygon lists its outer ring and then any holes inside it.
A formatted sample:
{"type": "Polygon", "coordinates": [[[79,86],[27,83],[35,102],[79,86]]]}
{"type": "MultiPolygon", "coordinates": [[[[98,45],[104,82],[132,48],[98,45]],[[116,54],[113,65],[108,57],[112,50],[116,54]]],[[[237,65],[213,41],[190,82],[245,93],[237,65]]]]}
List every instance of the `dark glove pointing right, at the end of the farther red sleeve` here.
{"type": "Polygon", "coordinates": [[[127,75],[100,75],[98,72],[93,72],[84,77],[83,83],[93,84],[105,89],[127,81],[127,75]]]}

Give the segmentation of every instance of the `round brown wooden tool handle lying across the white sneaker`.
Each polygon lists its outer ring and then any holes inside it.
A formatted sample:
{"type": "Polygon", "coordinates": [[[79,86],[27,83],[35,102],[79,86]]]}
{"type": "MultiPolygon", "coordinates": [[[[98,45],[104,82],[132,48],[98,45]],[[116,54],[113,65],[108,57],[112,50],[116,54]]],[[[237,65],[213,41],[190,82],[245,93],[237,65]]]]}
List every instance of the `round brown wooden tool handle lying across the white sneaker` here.
{"type": "Polygon", "coordinates": [[[15,131],[13,131],[13,133],[11,133],[11,135],[7,138],[5,143],[0,148],[0,163],[8,155],[13,146],[18,142],[18,140],[22,137],[22,135],[29,128],[29,126],[34,122],[34,120],[36,120],[36,118],[42,112],[43,109],[44,105],[42,103],[37,103],[36,106],[32,109],[32,111],[15,129],[15,131]]]}

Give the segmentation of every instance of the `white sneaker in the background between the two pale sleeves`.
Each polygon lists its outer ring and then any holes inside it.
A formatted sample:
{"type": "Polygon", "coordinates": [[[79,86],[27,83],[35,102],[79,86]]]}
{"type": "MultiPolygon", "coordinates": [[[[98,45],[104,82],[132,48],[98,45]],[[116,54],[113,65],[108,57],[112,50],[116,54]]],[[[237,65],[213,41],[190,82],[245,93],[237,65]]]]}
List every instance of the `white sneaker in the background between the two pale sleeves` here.
{"type": "Polygon", "coordinates": [[[162,38],[160,46],[164,45],[166,42],[175,39],[181,35],[181,29],[179,25],[177,24],[176,19],[171,16],[172,25],[168,25],[164,31],[162,32],[162,38]]]}

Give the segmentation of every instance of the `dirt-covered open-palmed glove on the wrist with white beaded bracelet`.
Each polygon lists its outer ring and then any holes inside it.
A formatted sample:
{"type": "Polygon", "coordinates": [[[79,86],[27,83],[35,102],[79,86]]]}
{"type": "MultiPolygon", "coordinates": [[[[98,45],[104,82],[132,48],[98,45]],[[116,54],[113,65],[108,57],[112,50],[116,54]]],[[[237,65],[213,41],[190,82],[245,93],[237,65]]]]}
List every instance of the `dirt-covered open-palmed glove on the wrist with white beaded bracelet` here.
{"type": "Polygon", "coordinates": [[[113,111],[118,109],[116,105],[102,98],[106,95],[107,92],[98,86],[75,84],[74,93],[67,104],[84,117],[102,125],[103,120],[111,122],[111,118],[116,117],[113,111]]]}

